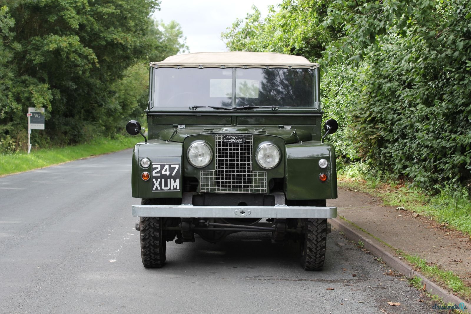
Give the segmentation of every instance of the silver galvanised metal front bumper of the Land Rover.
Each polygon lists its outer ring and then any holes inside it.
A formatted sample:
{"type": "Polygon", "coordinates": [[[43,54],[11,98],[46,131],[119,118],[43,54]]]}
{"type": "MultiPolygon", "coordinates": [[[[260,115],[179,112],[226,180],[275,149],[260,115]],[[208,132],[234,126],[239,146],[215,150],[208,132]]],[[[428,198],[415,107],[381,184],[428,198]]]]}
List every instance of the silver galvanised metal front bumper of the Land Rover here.
{"type": "Polygon", "coordinates": [[[337,207],[132,205],[134,217],[335,218],[337,207]]]}

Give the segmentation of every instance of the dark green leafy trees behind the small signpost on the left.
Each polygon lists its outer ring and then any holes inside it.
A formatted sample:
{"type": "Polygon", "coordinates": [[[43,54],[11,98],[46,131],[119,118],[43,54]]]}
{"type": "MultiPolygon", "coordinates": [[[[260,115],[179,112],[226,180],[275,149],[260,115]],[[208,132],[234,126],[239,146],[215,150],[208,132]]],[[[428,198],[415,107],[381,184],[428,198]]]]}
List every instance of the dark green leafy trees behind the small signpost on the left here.
{"type": "MultiPolygon", "coordinates": [[[[25,147],[28,107],[46,108],[33,145],[114,135],[146,104],[147,67],[187,48],[158,0],[0,0],[0,152],[25,147]],[[182,43],[183,42],[183,43],[182,43]]],[[[142,110],[141,110],[142,112],[142,110]]]]}

